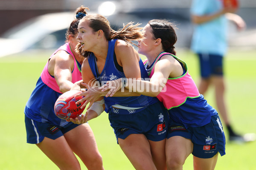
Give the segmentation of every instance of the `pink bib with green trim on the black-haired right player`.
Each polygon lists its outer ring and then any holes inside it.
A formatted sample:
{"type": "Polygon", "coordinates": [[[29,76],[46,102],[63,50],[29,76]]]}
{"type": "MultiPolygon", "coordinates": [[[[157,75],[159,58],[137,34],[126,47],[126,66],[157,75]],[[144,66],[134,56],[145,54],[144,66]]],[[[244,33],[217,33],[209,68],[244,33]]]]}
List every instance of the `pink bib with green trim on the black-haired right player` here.
{"type": "MultiPolygon", "coordinates": [[[[163,90],[160,92],[160,94],[157,95],[157,98],[160,100],[160,102],[163,102],[163,105],[165,106],[165,108],[169,110],[171,108],[175,108],[182,105],[184,102],[186,102],[186,99],[188,97],[196,98],[200,96],[200,94],[198,92],[198,88],[196,87],[194,80],[192,79],[192,77],[189,75],[187,71],[186,63],[183,62],[181,59],[177,58],[173,54],[166,53],[166,52],[160,53],[157,59],[155,60],[154,65],[151,67],[151,71],[148,76],[150,78],[152,77],[152,75],[154,74],[154,67],[157,61],[159,61],[160,58],[166,54],[169,54],[175,57],[175,59],[177,59],[179,62],[183,64],[183,67],[186,70],[186,73],[180,77],[169,78],[163,90]]],[[[148,62],[147,59],[144,60],[143,61],[144,65],[147,62],[148,62]]]]}

